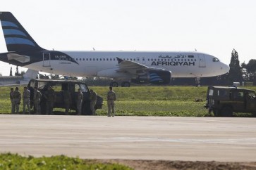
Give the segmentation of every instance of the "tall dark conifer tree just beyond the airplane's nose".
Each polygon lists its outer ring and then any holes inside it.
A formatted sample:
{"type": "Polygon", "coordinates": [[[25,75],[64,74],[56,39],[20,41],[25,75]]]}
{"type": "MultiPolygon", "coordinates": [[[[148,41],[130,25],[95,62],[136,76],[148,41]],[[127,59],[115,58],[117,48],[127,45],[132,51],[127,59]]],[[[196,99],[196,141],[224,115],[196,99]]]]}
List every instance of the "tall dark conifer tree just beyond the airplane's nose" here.
{"type": "Polygon", "coordinates": [[[242,82],[243,74],[240,67],[240,62],[238,59],[238,52],[233,49],[231,53],[231,62],[229,64],[230,70],[228,73],[228,82],[229,84],[233,84],[233,82],[242,82]]]}

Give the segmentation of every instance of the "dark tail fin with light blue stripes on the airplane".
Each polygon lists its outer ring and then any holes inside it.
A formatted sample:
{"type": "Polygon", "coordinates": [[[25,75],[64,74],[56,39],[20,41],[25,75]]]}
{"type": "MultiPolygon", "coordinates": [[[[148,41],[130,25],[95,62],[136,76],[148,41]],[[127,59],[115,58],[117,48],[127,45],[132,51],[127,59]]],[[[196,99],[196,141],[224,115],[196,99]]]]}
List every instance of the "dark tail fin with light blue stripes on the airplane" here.
{"type": "Polygon", "coordinates": [[[20,22],[10,12],[0,12],[1,26],[8,51],[44,50],[30,37],[20,22]]]}

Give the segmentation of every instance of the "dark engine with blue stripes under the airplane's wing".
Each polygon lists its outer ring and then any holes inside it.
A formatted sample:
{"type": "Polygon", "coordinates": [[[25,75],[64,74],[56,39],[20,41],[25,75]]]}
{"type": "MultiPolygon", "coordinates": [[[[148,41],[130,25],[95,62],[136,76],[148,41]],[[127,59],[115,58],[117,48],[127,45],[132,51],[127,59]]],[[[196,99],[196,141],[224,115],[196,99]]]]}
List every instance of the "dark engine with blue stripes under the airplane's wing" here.
{"type": "Polygon", "coordinates": [[[149,70],[131,79],[131,81],[136,84],[169,84],[171,81],[171,72],[165,70],[149,70]]]}

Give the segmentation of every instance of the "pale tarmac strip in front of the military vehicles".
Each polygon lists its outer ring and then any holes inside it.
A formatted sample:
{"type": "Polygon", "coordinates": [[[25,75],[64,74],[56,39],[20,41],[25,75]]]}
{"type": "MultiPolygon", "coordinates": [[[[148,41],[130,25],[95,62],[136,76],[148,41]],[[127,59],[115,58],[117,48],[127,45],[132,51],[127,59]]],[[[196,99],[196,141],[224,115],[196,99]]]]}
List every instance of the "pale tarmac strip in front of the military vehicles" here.
{"type": "Polygon", "coordinates": [[[0,115],[0,152],[83,159],[255,162],[256,119],[0,115]]]}

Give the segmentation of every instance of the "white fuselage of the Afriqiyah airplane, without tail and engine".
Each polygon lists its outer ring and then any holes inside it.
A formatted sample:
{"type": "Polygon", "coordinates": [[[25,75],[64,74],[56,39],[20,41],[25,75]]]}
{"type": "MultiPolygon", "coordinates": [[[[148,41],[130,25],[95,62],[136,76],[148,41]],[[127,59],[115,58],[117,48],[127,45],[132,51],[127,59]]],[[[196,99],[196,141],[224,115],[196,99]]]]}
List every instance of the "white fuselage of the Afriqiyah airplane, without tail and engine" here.
{"type": "MultiPolygon", "coordinates": [[[[214,77],[228,72],[229,67],[218,58],[198,52],[138,52],[138,51],[62,51],[75,60],[66,60],[65,55],[52,56],[54,60],[32,63],[32,70],[73,77],[130,78],[118,72],[118,60],[131,60],[147,67],[169,70],[171,77],[214,77]],[[58,60],[56,60],[58,58],[58,60]],[[77,64],[78,63],[78,64],[77,64]]],[[[43,58],[43,56],[42,56],[43,58]]]]}

